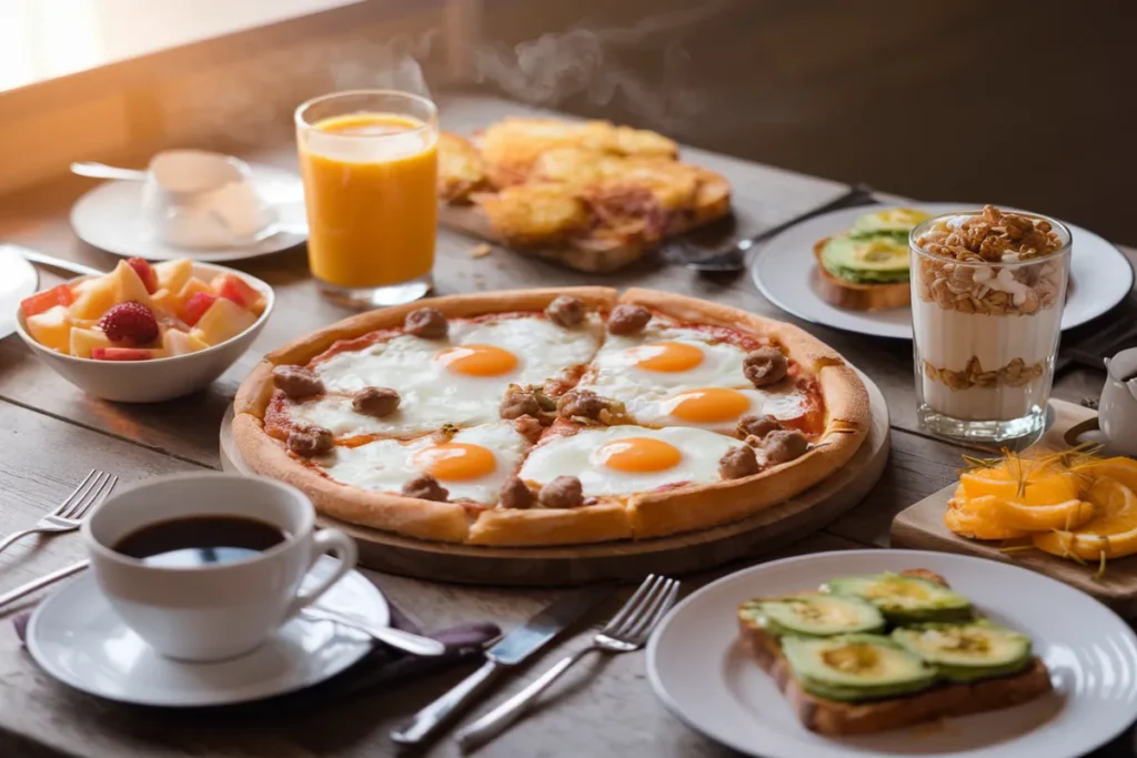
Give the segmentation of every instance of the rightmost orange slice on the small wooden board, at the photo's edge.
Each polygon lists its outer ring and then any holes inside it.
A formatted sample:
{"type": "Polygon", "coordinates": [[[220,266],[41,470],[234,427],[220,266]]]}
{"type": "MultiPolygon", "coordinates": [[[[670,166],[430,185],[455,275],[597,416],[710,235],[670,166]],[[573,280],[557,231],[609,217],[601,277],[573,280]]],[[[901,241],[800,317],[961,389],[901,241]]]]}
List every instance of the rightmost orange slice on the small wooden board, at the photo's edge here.
{"type": "MultiPolygon", "coordinates": [[[[1115,467],[1115,470],[1128,469],[1129,466],[1115,467]]],[[[1102,477],[1094,482],[1086,497],[1097,511],[1094,518],[1074,531],[1036,534],[1035,547],[1055,556],[1073,555],[1086,560],[1137,552],[1137,495],[1134,491],[1115,478],[1102,477]]]]}

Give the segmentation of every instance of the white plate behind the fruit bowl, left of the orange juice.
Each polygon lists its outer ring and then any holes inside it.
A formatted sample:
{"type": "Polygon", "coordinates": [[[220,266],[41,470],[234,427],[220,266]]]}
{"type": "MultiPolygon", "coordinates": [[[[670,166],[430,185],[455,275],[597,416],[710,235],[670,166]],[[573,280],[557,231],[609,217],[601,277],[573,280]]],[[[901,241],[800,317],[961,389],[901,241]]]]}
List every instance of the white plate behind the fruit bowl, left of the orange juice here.
{"type": "MultiPolygon", "coordinates": [[[[292,172],[249,164],[258,194],[281,224],[306,228],[304,184],[292,172]]],[[[241,260],[280,252],[301,244],[306,234],[282,232],[239,248],[189,250],[161,242],[142,215],[142,182],[103,182],[72,208],[72,227],[88,244],[116,256],[139,256],[148,260],[192,258],[206,263],[241,260]]]]}

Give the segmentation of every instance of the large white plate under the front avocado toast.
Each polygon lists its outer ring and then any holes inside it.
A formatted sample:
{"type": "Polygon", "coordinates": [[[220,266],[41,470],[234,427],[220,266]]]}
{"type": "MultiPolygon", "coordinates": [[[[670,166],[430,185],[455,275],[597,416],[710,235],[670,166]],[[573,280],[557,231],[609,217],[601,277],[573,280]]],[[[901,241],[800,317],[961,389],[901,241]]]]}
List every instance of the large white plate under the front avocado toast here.
{"type": "Polygon", "coordinates": [[[1137,716],[1137,636],[1087,594],[994,560],[920,550],[849,550],[731,574],[679,603],[647,649],[648,677],[689,726],[763,758],[1070,758],[1137,716]],[[995,622],[1031,635],[1055,691],[1014,708],[855,738],[806,730],[738,640],[738,603],[816,588],[836,576],[928,568],[995,622]]]}

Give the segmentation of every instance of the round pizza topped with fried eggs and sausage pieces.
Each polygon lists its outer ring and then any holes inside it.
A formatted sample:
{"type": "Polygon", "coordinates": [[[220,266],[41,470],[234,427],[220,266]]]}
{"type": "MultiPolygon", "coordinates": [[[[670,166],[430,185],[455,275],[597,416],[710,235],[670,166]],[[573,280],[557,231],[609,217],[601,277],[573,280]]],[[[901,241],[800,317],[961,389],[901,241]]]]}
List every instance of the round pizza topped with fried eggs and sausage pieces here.
{"type": "Polygon", "coordinates": [[[437,298],[275,352],[235,401],[257,473],[323,514],[483,545],[671,535],[825,478],[869,428],[813,336],[652,290],[437,298]]]}

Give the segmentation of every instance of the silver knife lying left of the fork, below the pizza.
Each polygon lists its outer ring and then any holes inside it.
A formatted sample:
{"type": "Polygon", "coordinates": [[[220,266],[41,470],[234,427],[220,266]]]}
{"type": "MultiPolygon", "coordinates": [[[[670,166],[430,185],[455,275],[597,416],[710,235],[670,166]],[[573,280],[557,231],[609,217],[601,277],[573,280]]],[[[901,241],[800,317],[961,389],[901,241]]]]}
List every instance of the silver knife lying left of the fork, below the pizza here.
{"type": "Polygon", "coordinates": [[[503,674],[540,650],[562,630],[609,597],[612,590],[608,585],[576,590],[509,632],[485,651],[487,660],[481,668],[415,714],[408,724],[391,732],[391,739],[399,744],[420,744],[426,741],[451,718],[473,705],[503,674]]]}

